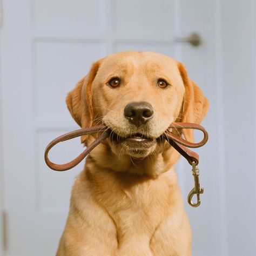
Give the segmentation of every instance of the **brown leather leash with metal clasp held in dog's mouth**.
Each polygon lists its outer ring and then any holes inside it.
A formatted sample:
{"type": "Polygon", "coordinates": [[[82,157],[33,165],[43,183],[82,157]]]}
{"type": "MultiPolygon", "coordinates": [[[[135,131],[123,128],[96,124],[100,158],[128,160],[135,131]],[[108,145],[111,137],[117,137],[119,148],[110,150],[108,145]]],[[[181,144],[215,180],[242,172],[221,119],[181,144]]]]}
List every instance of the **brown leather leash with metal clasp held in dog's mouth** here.
{"type": "MultiPolygon", "coordinates": [[[[76,131],[65,133],[62,136],[59,136],[58,138],[52,140],[52,142],[50,142],[48,144],[48,146],[46,146],[46,149],[44,152],[45,163],[52,170],[55,170],[55,171],[70,170],[71,168],[78,165],[80,163],[80,161],[82,161],[87,156],[87,154],[89,154],[99,143],[101,143],[103,140],[108,138],[110,136],[110,133],[111,133],[111,130],[109,130],[107,128],[107,126],[104,126],[104,125],[92,126],[89,128],[83,128],[83,129],[79,129],[76,131]],[[80,136],[83,136],[86,134],[100,134],[100,136],[91,145],[87,146],[86,149],[82,153],[80,153],[78,157],[76,157],[69,163],[55,164],[55,163],[52,163],[52,161],[50,161],[50,159],[48,158],[48,153],[52,149],[53,146],[55,146],[59,142],[65,142],[65,140],[70,140],[70,139],[80,137],[80,136]]],[[[200,184],[199,184],[199,169],[197,167],[197,165],[199,163],[199,156],[196,152],[189,150],[187,147],[195,148],[195,147],[201,147],[201,146],[205,145],[205,143],[208,140],[208,133],[206,132],[204,127],[199,124],[176,122],[176,123],[172,123],[169,126],[169,129],[167,129],[164,132],[163,137],[167,140],[167,142],[170,143],[170,145],[172,145],[174,147],[174,149],[176,149],[181,154],[181,156],[183,156],[187,159],[187,161],[190,165],[192,165],[192,175],[194,177],[194,187],[188,194],[187,200],[191,206],[193,206],[193,207],[199,206],[200,205],[200,194],[203,194],[203,192],[204,192],[204,189],[200,188],[200,184]],[[177,131],[180,129],[200,130],[204,133],[204,138],[198,143],[188,142],[187,140],[181,138],[181,136],[171,132],[170,131],[171,129],[176,129],[177,131]],[[192,197],[194,196],[194,194],[197,195],[196,203],[193,203],[193,201],[192,201],[192,197]]]]}

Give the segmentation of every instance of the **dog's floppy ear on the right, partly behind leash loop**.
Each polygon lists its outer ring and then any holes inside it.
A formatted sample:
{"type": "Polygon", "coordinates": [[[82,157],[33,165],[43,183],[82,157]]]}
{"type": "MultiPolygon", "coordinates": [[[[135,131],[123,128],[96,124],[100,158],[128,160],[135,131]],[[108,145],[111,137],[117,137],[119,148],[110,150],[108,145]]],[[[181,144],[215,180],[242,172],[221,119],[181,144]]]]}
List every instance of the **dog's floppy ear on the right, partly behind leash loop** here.
{"type": "MultiPolygon", "coordinates": [[[[182,111],[182,122],[200,124],[204,119],[209,103],[204,93],[187,75],[184,66],[178,63],[179,72],[185,86],[185,96],[182,111]]],[[[194,141],[193,130],[184,129],[183,131],[186,140],[194,141]]]]}

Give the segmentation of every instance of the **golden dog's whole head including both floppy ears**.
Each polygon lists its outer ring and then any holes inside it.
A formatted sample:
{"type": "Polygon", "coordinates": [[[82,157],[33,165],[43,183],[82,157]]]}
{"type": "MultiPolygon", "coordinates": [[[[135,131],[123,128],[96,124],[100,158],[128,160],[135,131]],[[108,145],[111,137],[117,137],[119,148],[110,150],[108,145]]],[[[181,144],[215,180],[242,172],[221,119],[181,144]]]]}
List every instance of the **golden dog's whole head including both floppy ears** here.
{"type": "MultiPolygon", "coordinates": [[[[66,103],[81,127],[107,125],[111,151],[132,158],[163,149],[161,134],[172,122],[200,123],[208,109],[184,66],[154,52],[120,52],[98,60],[66,103]]],[[[193,140],[191,130],[184,136],[193,140]]]]}

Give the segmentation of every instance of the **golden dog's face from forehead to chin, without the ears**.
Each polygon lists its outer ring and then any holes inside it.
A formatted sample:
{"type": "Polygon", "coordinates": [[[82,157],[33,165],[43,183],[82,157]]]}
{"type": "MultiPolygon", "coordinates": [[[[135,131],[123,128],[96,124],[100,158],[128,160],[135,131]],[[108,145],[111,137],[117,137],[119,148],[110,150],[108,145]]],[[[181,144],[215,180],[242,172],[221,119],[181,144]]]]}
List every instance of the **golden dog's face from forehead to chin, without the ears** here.
{"type": "Polygon", "coordinates": [[[177,63],[156,53],[119,53],[101,63],[92,105],[113,132],[112,151],[145,157],[178,118],[185,88],[177,63]]]}

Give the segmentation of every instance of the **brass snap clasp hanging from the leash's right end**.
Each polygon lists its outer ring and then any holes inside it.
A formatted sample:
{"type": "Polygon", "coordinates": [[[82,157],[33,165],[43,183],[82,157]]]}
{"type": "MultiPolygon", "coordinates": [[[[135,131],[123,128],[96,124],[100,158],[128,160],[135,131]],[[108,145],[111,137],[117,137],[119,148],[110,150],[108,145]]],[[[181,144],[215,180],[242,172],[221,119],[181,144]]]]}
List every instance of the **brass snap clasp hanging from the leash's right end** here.
{"type": "Polygon", "coordinates": [[[194,187],[188,194],[187,201],[188,201],[188,204],[190,204],[192,207],[198,207],[201,203],[200,202],[200,194],[204,193],[204,188],[203,187],[200,188],[199,169],[194,161],[192,162],[192,175],[194,177],[194,187]],[[197,202],[196,203],[193,203],[193,201],[192,201],[194,194],[197,194],[197,202]]]}

